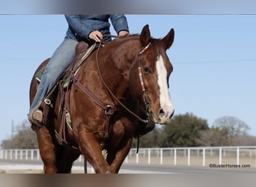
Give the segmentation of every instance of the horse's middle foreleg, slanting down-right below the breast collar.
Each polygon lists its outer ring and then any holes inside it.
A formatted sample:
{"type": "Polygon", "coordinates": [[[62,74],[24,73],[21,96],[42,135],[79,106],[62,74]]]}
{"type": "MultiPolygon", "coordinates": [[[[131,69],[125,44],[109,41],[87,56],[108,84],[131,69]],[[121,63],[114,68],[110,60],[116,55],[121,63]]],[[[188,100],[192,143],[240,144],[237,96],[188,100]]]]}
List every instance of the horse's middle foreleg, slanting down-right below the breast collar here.
{"type": "Polygon", "coordinates": [[[100,144],[85,125],[79,125],[79,150],[94,167],[97,174],[108,174],[110,166],[104,159],[100,144]]]}

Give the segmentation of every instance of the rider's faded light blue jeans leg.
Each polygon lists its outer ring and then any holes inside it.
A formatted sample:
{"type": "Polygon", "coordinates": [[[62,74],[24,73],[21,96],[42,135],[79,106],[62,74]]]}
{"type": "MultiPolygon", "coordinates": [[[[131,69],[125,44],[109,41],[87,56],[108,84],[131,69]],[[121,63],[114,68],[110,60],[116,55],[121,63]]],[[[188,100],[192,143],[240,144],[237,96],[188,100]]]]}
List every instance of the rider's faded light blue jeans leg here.
{"type": "Polygon", "coordinates": [[[58,76],[66,69],[66,67],[76,57],[76,40],[65,38],[64,41],[58,46],[58,49],[52,55],[49,63],[46,65],[45,72],[43,73],[41,82],[37,89],[37,93],[34,96],[34,100],[29,108],[29,111],[33,110],[39,103],[43,101],[43,97],[54,85],[58,76]]]}

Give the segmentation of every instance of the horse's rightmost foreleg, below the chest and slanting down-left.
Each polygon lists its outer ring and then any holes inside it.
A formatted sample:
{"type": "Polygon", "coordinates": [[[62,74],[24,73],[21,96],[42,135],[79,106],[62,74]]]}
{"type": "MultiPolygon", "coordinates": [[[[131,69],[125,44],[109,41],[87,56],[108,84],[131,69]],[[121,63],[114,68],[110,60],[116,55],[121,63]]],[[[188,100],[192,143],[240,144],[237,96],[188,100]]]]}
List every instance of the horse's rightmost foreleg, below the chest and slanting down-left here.
{"type": "Polygon", "coordinates": [[[132,146],[132,138],[127,141],[127,144],[125,144],[124,147],[122,147],[120,150],[108,150],[107,155],[107,162],[110,165],[110,170],[113,174],[118,174],[118,171],[121,168],[122,163],[124,162],[124,159],[127,157],[127,154],[129,153],[129,150],[132,146]]]}

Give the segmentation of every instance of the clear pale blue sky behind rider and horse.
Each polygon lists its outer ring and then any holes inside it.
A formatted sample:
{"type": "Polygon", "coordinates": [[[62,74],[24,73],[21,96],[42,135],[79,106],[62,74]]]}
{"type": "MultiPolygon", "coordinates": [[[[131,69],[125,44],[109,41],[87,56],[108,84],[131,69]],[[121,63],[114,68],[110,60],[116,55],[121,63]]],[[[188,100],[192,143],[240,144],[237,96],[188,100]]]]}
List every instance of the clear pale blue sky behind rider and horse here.
{"type": "MultiPolygon", "coordinates": [[[[127,15],[132,34],[150,25],[153,37],[175,30],[168,56],[175,114],[207,120],[243,120],[256,135],[255,15],[127,15]]],[[[0,15],[0,141],[10,138],[11,121],[27,119],[28,91],[37,66],[52,55],[67,31],[63,15],[0,15]]],[[[112,31],[112,34],[115,34],[112,31]]]]}

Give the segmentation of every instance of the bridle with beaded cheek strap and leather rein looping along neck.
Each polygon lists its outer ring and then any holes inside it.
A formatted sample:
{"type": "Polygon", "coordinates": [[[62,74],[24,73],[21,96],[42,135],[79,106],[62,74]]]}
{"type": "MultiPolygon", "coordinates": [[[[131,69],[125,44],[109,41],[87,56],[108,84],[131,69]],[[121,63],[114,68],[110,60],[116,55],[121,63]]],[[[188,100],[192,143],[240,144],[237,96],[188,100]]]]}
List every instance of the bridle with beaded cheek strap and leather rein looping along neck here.
{"type": "MultiPolygon", "coordinates": [[[[102,46],[102,43],[100,43],[100,46],[102,46]]],[[[144,104],[145,104],[145,111],[147,112],[147,118],[144,120],[141,117],[139,117],[137,114],[135,114],[133,111],[131,111],[129,108],[127,108],[127,106],[125,106],[116,96],[114,93],[112,93],[112,91],[110,90],[110,88],[108,87],[108,85],[106,85],[106,82],[103,80],[102,74],[100,72],[100,67],[99,67],[99,59],[98,59],[98,52],[100,50],[100,46],[97,49],[97,54],[96,54],[96,62],[97,62],[97,70],[100,76],[100,80],[101,82],[103,82],[103,85],[105,86],[105,88],[107,89],[107,91],[109,91],[110,95],[112,96],[112,98],[115,99],[115,101],[117,101],[126,111],[128,111],[130,114],[132,114],[134,117],[136,117],[138,120],[140,120],[143,123],[149,123],[150,121],[150,102],[148,101],[148,96],[147,93],[145,91],[144,88],[144,81],[143,81],[143,76],[142,76],[142,72],[141,72],[141,62],[140,62],[140,58],[141,55],[148,49],[148,47],[150,46],[150,43],[147,44],[147,46],[145,46],[140,52],[138,52],[138,78],[140,81],[140,85],[141,85],[141,90],[143,92],[143,98],[144,98],[144,104]]]]}

